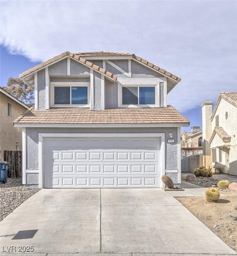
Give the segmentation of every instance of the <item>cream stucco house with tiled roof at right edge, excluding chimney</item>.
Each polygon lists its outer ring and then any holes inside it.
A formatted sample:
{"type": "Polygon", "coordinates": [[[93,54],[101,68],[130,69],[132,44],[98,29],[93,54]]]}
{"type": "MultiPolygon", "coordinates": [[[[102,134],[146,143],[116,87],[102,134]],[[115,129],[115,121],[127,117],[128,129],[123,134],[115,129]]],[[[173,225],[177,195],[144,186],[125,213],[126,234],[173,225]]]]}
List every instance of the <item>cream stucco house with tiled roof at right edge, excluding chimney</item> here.
{"type": "Polygon", "coordinates": [[[213,167],[237,175],[237,92],[220,93],[211,115],[211,128],[213,167]]]}

